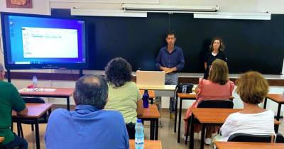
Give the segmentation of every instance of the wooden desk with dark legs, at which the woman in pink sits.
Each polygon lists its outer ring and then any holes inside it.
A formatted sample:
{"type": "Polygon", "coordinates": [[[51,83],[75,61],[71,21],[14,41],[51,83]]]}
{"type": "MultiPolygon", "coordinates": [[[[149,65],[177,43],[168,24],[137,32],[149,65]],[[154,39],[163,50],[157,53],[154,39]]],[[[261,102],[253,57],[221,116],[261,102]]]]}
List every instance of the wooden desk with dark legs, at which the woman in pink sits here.
{"type": "MultiPolygon", "coordinates": [[[[180,99],[180,109],[178,113],[178,143],[180,143],[180,123],[181,123],[181,115],[182,115],[182,100],[195,100],[196,94],[190,93],[190,94],[177,94],[177,103],[178,99],[180,99]]],[[[229,99],[233,100],[234,96],[230,96],[229,99]]],[[[178,111],[178,104],[175,104],[175,129],[176,129],[176,120],[177,120],[177,111],[178,111]]]]}

